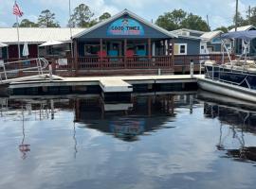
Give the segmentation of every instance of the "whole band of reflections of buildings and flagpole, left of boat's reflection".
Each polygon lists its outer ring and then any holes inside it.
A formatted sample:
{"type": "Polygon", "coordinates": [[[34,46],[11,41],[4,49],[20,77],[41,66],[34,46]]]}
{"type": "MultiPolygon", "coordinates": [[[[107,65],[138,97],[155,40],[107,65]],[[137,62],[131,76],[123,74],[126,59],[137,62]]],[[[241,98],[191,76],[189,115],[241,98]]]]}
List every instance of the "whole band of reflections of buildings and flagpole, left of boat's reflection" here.
{"type": "MultiPolygon", "coordinates": [[[[137,141],[139,135],[148,135],[155,129],[165,128],[167,122],[175,117],[174,108],[190,107],[192,112],[193,94],[151,94],[134,95],[129,102],[104,102],[100,95],[76,96],[65,99],[53,99],[44,96],[44,99],[5,99],[1,100],[1,116],[9,117],[23,112],[23,136],[19,146],[21,152],[26,153],[30,146],[25,144],[26,114],[27,120],[53,120],[56,112],[74,112],[74,156],[78,152],[76,140],[76,124],[89,129],[112,134],[123,141],[137,141]],[[21,107],[25,106],[25,109],[21,107]],[[26,113],[24,113],[26,112],[26,113]]],[[[10,119],[12,119],[10,118],[10,119]]]]}

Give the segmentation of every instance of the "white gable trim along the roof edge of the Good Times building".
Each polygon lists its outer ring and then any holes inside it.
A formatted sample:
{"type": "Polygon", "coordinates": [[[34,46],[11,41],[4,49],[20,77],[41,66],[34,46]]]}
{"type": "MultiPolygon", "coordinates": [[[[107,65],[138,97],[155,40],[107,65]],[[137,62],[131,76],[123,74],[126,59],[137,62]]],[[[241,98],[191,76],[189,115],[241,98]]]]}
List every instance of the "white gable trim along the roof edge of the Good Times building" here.
{"type": "Polygon", "coordinates": [[[144,25],[147,25],[147,26],[151,26],[153,28],[155,28],[156,30],[158,30],[159,32],[162,32],[164,33],[165,35],[169,36],[170,38],[178,38],[178,36],[176,34],[174,34],[173,32],[170,32],[170,31],[167,31],[166,29],[162,28],[162,27],[159,27],[159,26],[156,26],[155,24],[152,24],[146,20],[144,20],[143,18],[137,16],[137,14],[131,12],[130,10],[128,9],[124,9],[122,10],[121,12],[119,12],[118,14],[110,17],[109,19],[106,19],[105,21],[95,25],[95,26],[92,26],[84,31],[82,31],[81,33],[78,33],[77,35],[73,36],[73,39],[75,38],[80,38],[81,36],[101,27],[101,26],[104,26],[116,19],[118,19],[119,17],[125,15],[125,14],[128,14],[130,17],[134,18],[134,19],[137,19],[137,21],[143,23],[144,25]]]}

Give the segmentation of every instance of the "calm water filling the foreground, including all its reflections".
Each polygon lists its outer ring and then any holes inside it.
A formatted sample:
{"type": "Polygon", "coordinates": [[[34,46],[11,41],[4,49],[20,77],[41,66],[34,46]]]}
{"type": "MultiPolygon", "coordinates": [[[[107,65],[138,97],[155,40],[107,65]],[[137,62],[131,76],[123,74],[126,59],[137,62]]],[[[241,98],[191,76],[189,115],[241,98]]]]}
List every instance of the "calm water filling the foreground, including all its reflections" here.
{"type": "Polygon", "coordinates": [[[253,105],[63,98],[1,98],[0,188],[255,188],[253,105]]]}

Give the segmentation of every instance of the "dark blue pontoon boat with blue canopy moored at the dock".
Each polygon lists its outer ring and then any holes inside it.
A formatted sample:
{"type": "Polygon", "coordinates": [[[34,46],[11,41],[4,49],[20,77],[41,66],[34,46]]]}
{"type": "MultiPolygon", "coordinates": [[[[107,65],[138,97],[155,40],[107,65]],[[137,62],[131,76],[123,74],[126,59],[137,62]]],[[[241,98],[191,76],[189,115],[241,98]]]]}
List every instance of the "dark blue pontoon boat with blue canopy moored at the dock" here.
{"type": "Polygon", "coordinates": [[[221,35],[222,62],[205,61],[205,76],[198,78],[199,87],[216,94],[256,102],[256,62],[247,56],[253,39],[256,39],[256,30],[235,31],[221,35]],[[227,45],[234,40],[241,40],[243,45],[242,55],[237,60],[231,60],[227,45]],[[224,63],[226,54],[229,62],[224,63]]]}

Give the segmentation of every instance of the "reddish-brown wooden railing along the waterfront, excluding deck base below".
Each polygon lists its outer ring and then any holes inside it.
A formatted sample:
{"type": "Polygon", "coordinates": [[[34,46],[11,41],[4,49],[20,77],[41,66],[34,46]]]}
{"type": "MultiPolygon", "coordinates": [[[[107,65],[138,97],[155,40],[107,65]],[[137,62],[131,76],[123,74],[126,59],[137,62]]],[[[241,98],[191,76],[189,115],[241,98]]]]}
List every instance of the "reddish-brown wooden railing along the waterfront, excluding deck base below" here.
{"type": "MultiPolygon", "coordinates": [[[[231,56],[234,59],[234,56],[231,56]]],[[[4,62],[14,61],[4,60],[4,62]]],[[[26,59],[22,59],[26,60],[26,59]]],[[[174,60],[171,56],[153,56],[153,57],[80,57],[78,59],[65,59],[65,63],[59,63],[57,58],[46,59],[52,63],[52,67],[55,71],[63,71],[73,73],[76,70],[118,70],[118,69],[176,69],[176,67],[190,66],[191,60],[194,64],[199,65],[200,62],[205,60],[215,60],[216,62],[222,61],[221,54],[210,55],[175,55],[174,60]]],[[[229,61],[228,55],[225,56],[225,62],[229,61]]],[[[27,66],[33,66],[36,61],[30,61],[29,63],[18,62],[17,64],[11,64],[7,69],[25,68],[27,66]]]]}

